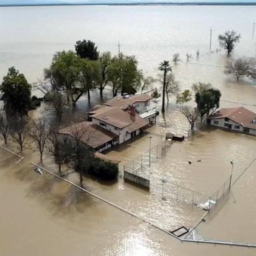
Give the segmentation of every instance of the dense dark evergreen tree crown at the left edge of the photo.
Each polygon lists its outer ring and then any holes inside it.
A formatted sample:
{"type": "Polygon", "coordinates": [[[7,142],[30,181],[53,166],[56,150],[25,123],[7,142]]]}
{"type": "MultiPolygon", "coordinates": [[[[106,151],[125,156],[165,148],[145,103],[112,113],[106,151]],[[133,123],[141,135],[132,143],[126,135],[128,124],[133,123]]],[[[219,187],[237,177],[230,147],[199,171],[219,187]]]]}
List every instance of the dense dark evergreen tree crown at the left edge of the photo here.
{"type": "Polygon", "coordinates": [[[7,115],[23,117],[31,108],[31,85],[15,67],[9,68],[0,85],[2,100],[7,115]]]}

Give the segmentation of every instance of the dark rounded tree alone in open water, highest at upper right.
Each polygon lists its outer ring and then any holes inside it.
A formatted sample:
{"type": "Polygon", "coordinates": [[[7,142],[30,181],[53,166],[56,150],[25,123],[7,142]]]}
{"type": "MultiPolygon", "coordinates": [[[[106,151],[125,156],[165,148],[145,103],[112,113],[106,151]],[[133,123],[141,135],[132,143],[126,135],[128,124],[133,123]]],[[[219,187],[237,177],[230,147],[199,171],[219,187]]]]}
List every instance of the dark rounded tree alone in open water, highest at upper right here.
{"type": "Polygon", "coordinates": [[[227,51],[227,55],[233,51],[235,43],[238,43],[241,35],[237,35],[235,31],[225,31],[223,35],[219,35],[219,45],[227,51]]]}

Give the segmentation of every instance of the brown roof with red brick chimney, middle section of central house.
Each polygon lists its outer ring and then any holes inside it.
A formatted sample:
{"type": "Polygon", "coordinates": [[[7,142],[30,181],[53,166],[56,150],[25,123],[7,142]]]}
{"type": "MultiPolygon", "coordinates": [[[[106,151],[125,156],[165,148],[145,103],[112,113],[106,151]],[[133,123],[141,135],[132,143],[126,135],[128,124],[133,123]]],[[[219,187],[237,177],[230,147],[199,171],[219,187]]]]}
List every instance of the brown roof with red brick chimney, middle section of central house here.
{"type": "Polygon", "coordinates": [[[139,115],[135,114],[133,116],[129,112],[123,111],[120,107],[103,107],[90,112],[90,114],[91,117],[119,129],[128,127],[127,131],[129,133],[145,127],[149,123],[139,115]]]}

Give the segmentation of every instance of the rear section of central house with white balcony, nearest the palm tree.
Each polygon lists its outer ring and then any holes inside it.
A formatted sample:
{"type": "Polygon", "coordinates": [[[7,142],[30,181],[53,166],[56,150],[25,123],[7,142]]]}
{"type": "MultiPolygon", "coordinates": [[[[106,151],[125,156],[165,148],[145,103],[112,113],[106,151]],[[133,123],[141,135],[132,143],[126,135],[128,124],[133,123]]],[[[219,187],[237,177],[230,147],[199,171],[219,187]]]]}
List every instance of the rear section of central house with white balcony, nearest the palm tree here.
{"type": "Polygon", "coordinates": [[[104,103],[109,107],[119,107],[124,111],[129,111],[131,106],[135,107],[136,113],[149,123],[155,123],[157,116],[157,107],[151,103],[151,96],[143,94],[116,96],[104,103]]]}

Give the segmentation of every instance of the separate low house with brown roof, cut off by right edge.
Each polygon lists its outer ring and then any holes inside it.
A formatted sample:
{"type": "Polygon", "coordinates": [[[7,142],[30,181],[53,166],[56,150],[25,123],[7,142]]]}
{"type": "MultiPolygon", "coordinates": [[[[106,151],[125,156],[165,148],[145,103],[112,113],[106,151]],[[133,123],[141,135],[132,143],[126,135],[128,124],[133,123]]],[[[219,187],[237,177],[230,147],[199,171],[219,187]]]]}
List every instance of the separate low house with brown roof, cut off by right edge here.
{"type": "Polygon", "coordinates": [[[256,135],[256,113],[245,107],[220,109],[208,117],[207,123],[232,131],[256,135]]]}

